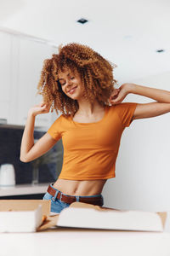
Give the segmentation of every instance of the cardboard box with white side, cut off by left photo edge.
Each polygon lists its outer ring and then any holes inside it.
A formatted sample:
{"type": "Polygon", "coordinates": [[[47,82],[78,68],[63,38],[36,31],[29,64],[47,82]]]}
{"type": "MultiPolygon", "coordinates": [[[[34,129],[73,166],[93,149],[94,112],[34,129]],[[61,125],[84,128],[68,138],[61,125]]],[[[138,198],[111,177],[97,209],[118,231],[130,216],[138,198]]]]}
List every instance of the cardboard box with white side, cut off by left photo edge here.
{"type": "Polygon", "coordinates": [[[43,200],[0,200],[0,232],[37,231],[50,207],[43,200]]]}

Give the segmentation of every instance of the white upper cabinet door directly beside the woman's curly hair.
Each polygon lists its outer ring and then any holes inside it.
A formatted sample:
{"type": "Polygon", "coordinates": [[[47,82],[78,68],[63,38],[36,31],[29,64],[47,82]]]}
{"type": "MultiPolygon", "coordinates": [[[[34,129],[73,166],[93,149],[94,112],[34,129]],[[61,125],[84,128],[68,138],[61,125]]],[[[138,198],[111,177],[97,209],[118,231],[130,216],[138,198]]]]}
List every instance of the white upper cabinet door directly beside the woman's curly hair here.
{"type": "MultiPolygon", "coordinates": [[[[42,102],[42,96],[36,96],[37,84],[40,79],[43,61],[51,58],[51,46],[35,41],[20,39],[19,79],[18,79],[18,111],[17,123],[26,124],[26,118],[31,106],[42,102]]],[[[51,123],[51,113],[37,116],[36,125],[48,126],[51,123]]]]}

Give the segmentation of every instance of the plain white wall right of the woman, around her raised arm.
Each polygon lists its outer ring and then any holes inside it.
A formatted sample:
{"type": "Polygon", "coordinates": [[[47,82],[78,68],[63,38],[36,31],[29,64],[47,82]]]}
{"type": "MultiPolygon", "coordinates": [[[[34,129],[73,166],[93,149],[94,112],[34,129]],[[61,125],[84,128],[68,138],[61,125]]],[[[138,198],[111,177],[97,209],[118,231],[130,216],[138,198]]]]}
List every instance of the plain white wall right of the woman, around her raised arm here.
{"type": "MultiPolygon", "coordinates": [[[[131,81],[170,90],[170,73],[131,81]]],[[[128,95],[124,102],[153,102],[128,95]]],[[[170,211],[170,113],[137,119],[125,129],[116,161],[116,178],[105,183],[105,207],[170,211]]]]}

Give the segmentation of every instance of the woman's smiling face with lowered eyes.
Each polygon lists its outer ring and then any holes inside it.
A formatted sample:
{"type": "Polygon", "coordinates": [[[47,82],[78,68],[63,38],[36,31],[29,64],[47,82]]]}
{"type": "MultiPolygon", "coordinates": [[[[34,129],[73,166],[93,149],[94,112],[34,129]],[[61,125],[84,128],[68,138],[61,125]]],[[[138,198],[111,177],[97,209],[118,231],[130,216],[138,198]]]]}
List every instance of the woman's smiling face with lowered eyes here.
{"type": "Polygon", "coordinates": [[[74,74],[68,69],[59,73],[59,84],[66,96],[73,100],[79,100],[83,96],[82,80],[79,74],[74,74]]]}

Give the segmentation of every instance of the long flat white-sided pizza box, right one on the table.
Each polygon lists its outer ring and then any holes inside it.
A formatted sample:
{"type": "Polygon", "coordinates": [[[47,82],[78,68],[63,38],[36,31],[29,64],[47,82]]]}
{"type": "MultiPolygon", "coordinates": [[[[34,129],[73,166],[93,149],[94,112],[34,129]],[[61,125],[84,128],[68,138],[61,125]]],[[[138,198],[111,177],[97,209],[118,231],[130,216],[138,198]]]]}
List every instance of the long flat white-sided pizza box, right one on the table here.
{"type": "Polygon", "coordinates": [[[56,227],[98,229],[163,231],[167,212],[122,211],[74,202],[57,215],[50,216],[38,230],[45,230],[52,224],[56,227]],[[51,223],[50,223],[51,221],[51,223]]]}

